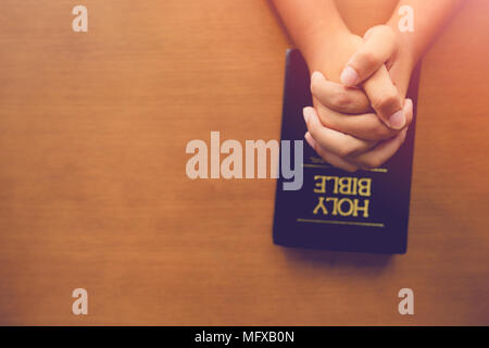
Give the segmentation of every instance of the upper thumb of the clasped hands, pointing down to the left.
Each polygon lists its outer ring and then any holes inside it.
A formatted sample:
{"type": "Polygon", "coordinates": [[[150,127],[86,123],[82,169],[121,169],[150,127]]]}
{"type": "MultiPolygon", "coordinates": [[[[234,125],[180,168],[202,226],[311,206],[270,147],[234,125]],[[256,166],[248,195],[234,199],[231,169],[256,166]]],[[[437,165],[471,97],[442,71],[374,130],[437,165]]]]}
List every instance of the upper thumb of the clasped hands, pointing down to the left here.
{"type": "Polygon", "coordinates": [[[356,86],[371,77],[396,51],[396,34],[387,25],[378,25],[365,34],[365,41],[348,62],[340,80],[356,86]]]}

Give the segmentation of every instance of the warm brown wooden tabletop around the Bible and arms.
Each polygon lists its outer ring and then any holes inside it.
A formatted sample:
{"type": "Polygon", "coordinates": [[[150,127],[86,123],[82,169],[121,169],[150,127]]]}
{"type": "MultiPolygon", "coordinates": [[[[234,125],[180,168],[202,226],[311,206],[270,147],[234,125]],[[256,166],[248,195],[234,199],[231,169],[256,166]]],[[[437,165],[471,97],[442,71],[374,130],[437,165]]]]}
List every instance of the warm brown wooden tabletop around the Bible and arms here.
{"type": "MultiPolygon", "coordinates": [[[[392,258],[276,247],[274,181],[185,174],[211,130],[279,136],[289,44],[266,1],[1,2],[0,324],[489,324],[489,1],[426,57],[392,258]]],[[[339,2],[363,30],[394,1],[339,2]]]]}

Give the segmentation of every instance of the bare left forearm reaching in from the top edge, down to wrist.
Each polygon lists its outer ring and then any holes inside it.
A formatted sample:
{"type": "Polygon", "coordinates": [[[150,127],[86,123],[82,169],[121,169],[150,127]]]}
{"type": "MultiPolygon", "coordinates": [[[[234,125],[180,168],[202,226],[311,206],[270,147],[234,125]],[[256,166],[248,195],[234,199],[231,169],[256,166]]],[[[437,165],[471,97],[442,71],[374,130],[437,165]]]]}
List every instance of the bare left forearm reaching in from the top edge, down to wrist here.
{"type": "Polygon", "coordinates": [[[334,0],[272,0],[308,63],[335,49],[335,37],[349,33],[334,0]]]}

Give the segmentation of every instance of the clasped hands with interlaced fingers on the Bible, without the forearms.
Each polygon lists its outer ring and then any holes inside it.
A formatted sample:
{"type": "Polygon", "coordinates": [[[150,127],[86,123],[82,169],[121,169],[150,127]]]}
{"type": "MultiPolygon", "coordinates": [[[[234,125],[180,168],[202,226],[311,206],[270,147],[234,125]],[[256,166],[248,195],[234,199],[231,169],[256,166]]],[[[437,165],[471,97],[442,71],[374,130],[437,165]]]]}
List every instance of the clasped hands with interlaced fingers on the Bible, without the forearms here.
{"type": "Polygon", "coordinates": [[[364,36],[344,33],[334,50],[317,50],[313,107],[303,110],[305,140],[329,164],[354,172],[380,166],[403,144],[413,120],[405,99],[413,59],[409,47],[387,25],[364,36]]]}

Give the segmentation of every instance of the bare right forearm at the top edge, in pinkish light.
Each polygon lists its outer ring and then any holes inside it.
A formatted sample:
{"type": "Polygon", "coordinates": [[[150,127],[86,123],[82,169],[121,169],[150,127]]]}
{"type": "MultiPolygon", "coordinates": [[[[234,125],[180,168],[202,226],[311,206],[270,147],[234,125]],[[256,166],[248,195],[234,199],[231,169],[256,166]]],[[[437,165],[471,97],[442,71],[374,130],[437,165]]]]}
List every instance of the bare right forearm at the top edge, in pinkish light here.
{"type": "Polygon", "coordinates": [[[404,49],[415,64],[428,50],[449,20],[465,0],[401,0],[388,25],[400,36],[404,49]],[[399,9],[409,5],[414,13],[414,32],[401,33],[399,9]]]}

